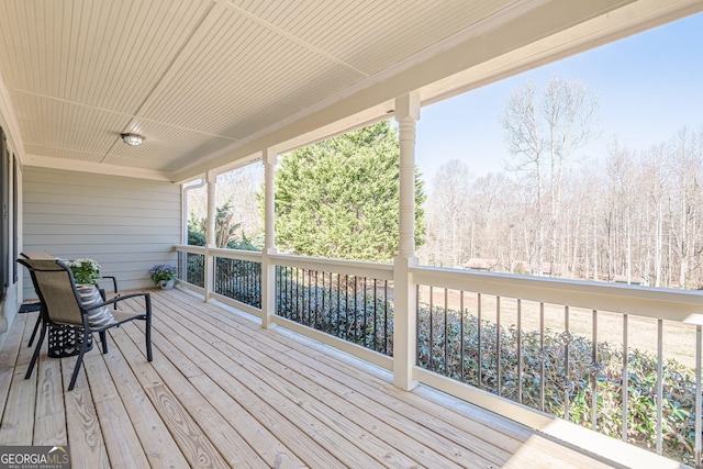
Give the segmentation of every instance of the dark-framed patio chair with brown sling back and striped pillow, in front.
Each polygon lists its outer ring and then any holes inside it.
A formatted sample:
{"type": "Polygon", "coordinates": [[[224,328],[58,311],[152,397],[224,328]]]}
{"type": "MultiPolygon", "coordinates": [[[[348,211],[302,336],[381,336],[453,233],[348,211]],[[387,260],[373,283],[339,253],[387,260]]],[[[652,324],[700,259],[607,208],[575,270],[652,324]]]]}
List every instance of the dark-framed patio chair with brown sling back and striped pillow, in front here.
{"type": "MultiPolygon", "coordinates": [[[[32,376],[32,370],[40,356],[40,349],[44,337],[52,332],[64,334],[64,339],[75,340],[75,349],[78,355],[76,368],[70,379],[68,390],[71,391],[78,378],[78,371],[82,364],[83,355],[92,347],[92,334],[99,333],[102,343],[102,353],[108,353],[107,333],[111,327],[120,326],[129,321],[146,321],[145,345],[146,358],[152,361],[152,299],[149,293],[131,293],[113,298],[110,301],[98,301],[86,305],[76,288],[74,275],[70,269],[58,259],[18,259],[18,263],[26,267],[32,277],[34,289],[40,297],[42,315],[42,332],[34,349],[30,368],[25,379],[32,376]],[[111,312],[110,304],[133,298],[144,299],[144,312],[127,313],[122,311],[111,312]],[[105,320],[108,317],[108,320],[105,320]],[[98,324],[98,325],[96,325],[98,324]]],[[[51,337],[49,337],[51,355],[51,337]]],[[[76,355],[72,353],[70,355],[76,355]]]]}

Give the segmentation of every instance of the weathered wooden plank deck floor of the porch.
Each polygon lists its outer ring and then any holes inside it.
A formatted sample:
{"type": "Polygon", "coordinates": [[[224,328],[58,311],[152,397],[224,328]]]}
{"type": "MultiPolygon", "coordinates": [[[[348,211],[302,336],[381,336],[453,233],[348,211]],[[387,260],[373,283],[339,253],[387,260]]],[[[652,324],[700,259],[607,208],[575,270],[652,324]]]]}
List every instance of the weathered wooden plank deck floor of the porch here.
{"type": "Polygon", "coordinates": [[[68,444],[74,468],[605,467],[185,292],[152,298],[154,361],[143,323],[112,330],[72,392],[75,358],[46,345],[24,379],[36,313],[20,314],[0,350],[0,445],[68,444]]]}

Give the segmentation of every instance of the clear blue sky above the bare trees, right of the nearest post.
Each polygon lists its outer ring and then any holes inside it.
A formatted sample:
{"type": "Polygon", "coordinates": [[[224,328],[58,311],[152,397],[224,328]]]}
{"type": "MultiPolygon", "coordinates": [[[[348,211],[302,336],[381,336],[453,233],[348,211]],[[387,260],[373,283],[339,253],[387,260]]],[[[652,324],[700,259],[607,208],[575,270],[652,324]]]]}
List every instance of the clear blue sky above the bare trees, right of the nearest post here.
{"type": "Polygon", "coordinates": [[[598,158],[614,135],[631,149],[666,142],[684,125],[703,125],[703,14],[422,108],[415,159],[426,183],[450,159],[477,176],[500,171],[507,154],[498,116],[506,97],[527,80],[542,88],[553,75],[578,79],[599,97],[602,134],[581,153],[598,158]]]}

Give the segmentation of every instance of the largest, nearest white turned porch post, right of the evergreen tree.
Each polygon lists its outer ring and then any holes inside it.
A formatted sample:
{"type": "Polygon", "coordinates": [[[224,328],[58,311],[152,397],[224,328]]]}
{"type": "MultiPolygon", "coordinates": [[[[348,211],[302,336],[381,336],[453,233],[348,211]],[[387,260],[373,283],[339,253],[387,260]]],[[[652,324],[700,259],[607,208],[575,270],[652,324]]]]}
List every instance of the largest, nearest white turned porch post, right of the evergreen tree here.
{"type": "Polygon", "coordinates": [[[420,120],[420,99],[405,94],[395,99],[395,120],[400,127],[400,219],[398,257],[393,263],[393,384],[410,391],[417,386],[413,367],[417,356],[416,298],[410,268],[415,257],[415,127],[420,120]]]}

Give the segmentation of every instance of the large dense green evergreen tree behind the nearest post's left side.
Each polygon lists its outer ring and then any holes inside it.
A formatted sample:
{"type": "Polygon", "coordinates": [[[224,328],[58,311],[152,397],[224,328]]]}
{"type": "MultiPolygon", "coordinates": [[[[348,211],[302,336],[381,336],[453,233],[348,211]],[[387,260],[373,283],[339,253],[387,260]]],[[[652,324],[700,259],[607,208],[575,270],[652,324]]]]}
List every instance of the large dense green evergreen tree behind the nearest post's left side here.
{"type": "MultiPolygon", "coordinates": [[[[398,250],[398,132],[389,121],[301,148],[276,172],[277,246],[298,255],[389,261],[398,250]]],[[[415,178],[415,242],[424,239],[415,178]]]]}

